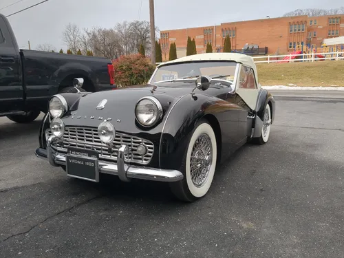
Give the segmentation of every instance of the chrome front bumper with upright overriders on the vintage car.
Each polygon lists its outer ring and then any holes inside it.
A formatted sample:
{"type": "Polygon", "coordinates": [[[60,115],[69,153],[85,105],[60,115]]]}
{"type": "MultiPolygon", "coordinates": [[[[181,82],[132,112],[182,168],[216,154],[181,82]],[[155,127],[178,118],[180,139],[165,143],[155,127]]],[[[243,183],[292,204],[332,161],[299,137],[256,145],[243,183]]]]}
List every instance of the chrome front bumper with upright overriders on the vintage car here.
{"type": "MultiPolygon", "coordinates": [[[[64,153],[58,153],[52,149],[51,144],[54,140],[58,140],[58,138],[50,136],[47,140],[47,149],[38,148],[36,149],[35,154],[39,158],[47,159],[52,166],[66,166],[66,155],[64,153]]],[[[125,182],[129,182],[131,178],[161,182],[176,182],[184,178],[183,174],[177,170],[155,169],[147,166],[132,166],[125,164],[124,153],[126,149],[127,146],[125,145],[120,147],[118,151],[117,164],[114,162],[98,160],[98,173],[118,175],[120,180],[125,182]]],[[[87,178],[80,179],[88,180],[87,178]]],[[[96,182],[98,182],[98,180],[96,180],[96,182]]]]}

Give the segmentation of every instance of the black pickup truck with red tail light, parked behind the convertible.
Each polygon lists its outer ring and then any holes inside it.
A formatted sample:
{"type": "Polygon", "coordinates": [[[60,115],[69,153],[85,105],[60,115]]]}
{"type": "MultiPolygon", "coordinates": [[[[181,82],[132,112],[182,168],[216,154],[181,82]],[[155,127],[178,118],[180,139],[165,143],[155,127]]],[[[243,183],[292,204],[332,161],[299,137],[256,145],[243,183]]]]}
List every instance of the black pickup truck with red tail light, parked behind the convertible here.
{"type": "Polygon", "coordinates": [[[8,19],[0,14],[0,116],[32,122],[47,112],[47,101],[73,92],[74,78],[83,78],[82,91],[116,89],[109,59],[34,50],[19,50],[8,19]]]}

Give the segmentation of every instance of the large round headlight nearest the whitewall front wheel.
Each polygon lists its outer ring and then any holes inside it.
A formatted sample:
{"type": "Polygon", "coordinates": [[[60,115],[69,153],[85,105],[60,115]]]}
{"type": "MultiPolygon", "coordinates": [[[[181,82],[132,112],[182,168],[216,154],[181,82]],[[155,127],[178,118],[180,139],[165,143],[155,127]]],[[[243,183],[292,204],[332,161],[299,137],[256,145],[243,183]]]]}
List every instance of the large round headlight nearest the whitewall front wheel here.
{"type": "Polygon", "coordinates": [[[162,117],[162,106],[156,98],[144,97],[138,100],[135,114],[141,125],[150,127],[162,117]]]}

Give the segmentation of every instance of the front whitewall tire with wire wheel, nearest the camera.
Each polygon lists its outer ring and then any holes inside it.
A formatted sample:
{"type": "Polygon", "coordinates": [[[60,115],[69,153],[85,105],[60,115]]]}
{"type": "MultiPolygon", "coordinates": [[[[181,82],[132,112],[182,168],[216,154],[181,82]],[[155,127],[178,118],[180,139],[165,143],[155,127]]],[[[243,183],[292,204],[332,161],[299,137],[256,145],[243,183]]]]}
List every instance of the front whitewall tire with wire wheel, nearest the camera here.
{"type": "Polygon", "coordinates": [[[171,190],[180,200],[193,202],[208,193],[217,163],[216,136],[206,121],[197,124],[189,140],[182,162],[184,179],[171,183],[171,190]]]}

